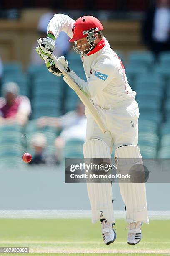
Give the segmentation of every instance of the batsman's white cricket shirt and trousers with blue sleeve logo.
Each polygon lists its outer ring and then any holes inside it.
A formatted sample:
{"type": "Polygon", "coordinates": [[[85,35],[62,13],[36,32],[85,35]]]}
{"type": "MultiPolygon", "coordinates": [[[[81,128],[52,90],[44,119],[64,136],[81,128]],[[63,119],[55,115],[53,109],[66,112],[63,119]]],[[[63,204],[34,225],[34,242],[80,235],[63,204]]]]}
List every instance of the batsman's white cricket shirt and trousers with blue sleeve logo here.
{"type": "MultiPolygon", "coordinates": [[[[50,20],[48,31],[52,31],[55,37],[58,36],[60,31],[65,31],[72,38],[74,22],[75,20],[67,15],[56,14],[50,20]]],[[[105,38],[103,38],[101,49],[89,56],[81,55],[81,59],[87,82],[80,79],[76,74],[69,74],[79,87],[89,95],[97,108],[100,108],[102,120],[107,129],[106,133],[102,133],[88,110],[85,109],[85,115],[87,116],[86,139],[104,141],[109,146],[110,152],[113,144],[115,149],[125,145],[138,146],[139,109],[135,100],[136,92],[128,84],[121,60],[110,48],[105,38]]],[[[124,184],[121,184],[120,192],[123,186],[124,184]]],[[[131,217],[128,217],[127,220],[135,221],[133,210],[129,210],[129,212],[127,209],[127,215],[131,217]]],[[[148,223],[146,209],[142,218],[141,221],[148,223]]],[[[96,220],[93,218],[92,222],[95,223],[96,220]]],[[[110,221],[113,221],[113,219],[110,221]]]]}

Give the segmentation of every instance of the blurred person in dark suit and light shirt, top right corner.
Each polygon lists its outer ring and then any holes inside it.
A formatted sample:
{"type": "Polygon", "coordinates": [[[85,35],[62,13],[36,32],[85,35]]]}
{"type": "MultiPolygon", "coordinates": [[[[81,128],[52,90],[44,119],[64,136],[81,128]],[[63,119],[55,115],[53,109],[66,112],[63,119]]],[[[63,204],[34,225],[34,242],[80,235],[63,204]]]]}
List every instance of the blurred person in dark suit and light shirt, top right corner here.
{"type": "Polygon", "coordinates": [[[156,55],[170,51],[170,0],[157,0],[148,10],[143,23],[143,40],[156,55]]]}

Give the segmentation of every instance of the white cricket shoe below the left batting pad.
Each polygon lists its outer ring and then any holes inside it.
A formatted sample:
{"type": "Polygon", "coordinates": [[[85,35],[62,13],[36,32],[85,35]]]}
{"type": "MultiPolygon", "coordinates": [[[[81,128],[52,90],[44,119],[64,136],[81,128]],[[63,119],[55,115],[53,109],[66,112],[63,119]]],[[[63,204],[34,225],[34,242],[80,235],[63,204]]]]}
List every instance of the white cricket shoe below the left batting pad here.
{"type": "Polygon", "coordinates": [[[115,230],[112,228],[114,224],[111,224],[107,220],[102,221],[102,237],[105,244],[113,243],[116,239],[115,230]]]}

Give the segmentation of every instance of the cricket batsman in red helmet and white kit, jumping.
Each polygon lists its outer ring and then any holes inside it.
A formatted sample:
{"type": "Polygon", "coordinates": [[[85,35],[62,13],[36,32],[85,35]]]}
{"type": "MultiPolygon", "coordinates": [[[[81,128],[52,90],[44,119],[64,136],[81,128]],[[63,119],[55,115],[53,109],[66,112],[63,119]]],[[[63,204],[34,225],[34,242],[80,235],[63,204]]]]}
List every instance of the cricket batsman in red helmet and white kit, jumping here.
{"type": "MultiPolygon", "coordinates": [[[[45,60],[48,70],[61,76],[62,72],[50,58],[55,39],[64,31],[70,37],[69,41],[75,42],[73,49],[80,54],[87,82],[70,70],[65,57],[61,56],[58,60],[80,89],[92,99],[97,108],[100,108],[101,118],[107,130],[102,133],[86,108],[87,138],[83,145],[84,158],[111,159],[114,144],[115,157],[127,159],[129,170],[133,166],[133,159],[134,162],[135,159],[142,159],[138,147],[139,109],[135,100],[136,92],[128,84],[122,61],[102,36],[102,30],[102,24],[95,17],[84,16],[73,20],[68,15],[56,14],[48,25],[47,37],[43,38],[36,51],[45,60]]],[[[118,164],[117,168],[121,170],[121,164],[118,164]]],[[[145,184],[120,183],[119,187],[127,210],[126,220],[129,223],[127,243],[135,245],[141,240],[142,223],[149,223],[145,184]]],[[[92,210],[92,223],[100,220],[104,243],[113,243],[116,233],[113,229],[115,218],[111,184],[87,183],[87,192],[92,210]]]]}

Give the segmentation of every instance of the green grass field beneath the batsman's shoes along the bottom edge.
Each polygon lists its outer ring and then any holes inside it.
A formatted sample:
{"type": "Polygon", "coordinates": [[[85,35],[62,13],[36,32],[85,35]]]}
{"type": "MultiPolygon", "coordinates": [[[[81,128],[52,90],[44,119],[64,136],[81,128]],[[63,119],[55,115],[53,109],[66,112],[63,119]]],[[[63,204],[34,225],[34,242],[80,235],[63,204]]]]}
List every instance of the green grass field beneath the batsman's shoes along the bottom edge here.
{"type": "Polygon", "coordinates": [[[126,243],[125,220],[117,220],[115,228],[117,239],[106,246],[100,223],[92,225],[90,219],[0,219],[0,247],[29,247],[31,256],[170,255],[170,220],[144,224],[142,241],[136,246],[126,243]]]}

